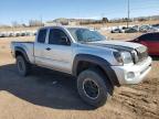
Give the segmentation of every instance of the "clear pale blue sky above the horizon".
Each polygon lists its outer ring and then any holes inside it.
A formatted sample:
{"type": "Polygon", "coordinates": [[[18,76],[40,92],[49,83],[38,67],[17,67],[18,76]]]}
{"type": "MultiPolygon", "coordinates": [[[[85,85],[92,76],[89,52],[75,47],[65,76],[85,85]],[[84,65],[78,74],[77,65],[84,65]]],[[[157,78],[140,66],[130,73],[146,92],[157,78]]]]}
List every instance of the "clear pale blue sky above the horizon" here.
{"type": "MultiPolygon", "coordinates": [[[[159,14],[159,0],[130,0],[130,17],[159,14]]],[[[127,0],[1,0],[0,24],[56,18],[126,18],[127,0]]]]}

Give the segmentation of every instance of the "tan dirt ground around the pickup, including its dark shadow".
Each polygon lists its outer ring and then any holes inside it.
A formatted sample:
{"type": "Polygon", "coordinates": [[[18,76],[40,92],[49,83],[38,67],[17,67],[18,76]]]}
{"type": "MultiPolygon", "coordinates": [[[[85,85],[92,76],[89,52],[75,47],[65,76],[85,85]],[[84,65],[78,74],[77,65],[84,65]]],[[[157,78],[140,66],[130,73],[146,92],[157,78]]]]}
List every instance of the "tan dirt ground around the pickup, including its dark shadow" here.
{"type": "MultiPolygon", "coordinates": [[[[110,37],[119,35],[124,37],[110,37]]],[[[34,67],[30,76],[20,77],[11,41],[0,39],[0,119],[159,119],[159,58],[153,57],[145,82],[115,88],[112,99],[94,109],[81,100],[76,80],[67,75],[34,67]]]]}

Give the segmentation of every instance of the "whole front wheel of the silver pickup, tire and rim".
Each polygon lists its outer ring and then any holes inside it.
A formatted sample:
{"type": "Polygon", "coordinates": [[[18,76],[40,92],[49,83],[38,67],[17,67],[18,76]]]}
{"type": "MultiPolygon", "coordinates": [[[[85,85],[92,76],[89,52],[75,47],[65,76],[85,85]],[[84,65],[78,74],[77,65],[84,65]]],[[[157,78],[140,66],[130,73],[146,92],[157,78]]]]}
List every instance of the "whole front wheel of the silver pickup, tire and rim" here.
{"type": "Polygon", "coordinates": [[[108,97],[108,87],[98,71],[87,69],[80,74],[77,78],[77,90],[82,99],[94,106],[100,107],[105,105],[108,97]]]}

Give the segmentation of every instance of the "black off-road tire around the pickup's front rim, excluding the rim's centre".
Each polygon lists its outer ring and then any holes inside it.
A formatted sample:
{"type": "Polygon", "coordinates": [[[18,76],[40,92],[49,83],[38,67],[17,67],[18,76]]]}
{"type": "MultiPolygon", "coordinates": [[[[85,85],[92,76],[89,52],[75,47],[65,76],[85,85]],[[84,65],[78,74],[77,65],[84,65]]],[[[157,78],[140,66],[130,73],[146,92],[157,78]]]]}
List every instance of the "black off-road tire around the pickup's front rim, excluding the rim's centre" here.
{"type": "MultiPolygon", "coordinates": [[[[81,96],[81,98],[88,105],[94,106],[94,107],[100,107],[105,105],[107,101],[107,98],[110,96],[109,95],[109,82],[107,82],[107,77],[104,77],[104,75],[98,71],[98,69],[86,69],[78,75],[77,78],[77,90],[81,96]],[[86,83],[85,80],[92,80],[97,85],[98,88],[98,95],[96,98],[92,98],[91,96],[87,95],[84,84],[86,83]]],[[[94,84],[93,83],[93,84],[94,84]]]]}

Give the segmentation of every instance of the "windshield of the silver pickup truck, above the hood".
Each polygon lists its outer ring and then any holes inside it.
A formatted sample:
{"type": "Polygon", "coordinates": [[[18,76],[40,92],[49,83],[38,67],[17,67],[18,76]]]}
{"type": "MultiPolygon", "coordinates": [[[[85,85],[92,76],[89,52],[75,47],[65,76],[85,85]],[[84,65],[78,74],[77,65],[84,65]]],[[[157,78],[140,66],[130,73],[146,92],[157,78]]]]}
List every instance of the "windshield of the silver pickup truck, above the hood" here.
{"type": "Polygon", "coordinates": [[[106,40],[106,37],[97,31],[78,28],[70,28],[67,30],[77,42],[96,42],[106,40]]]}

